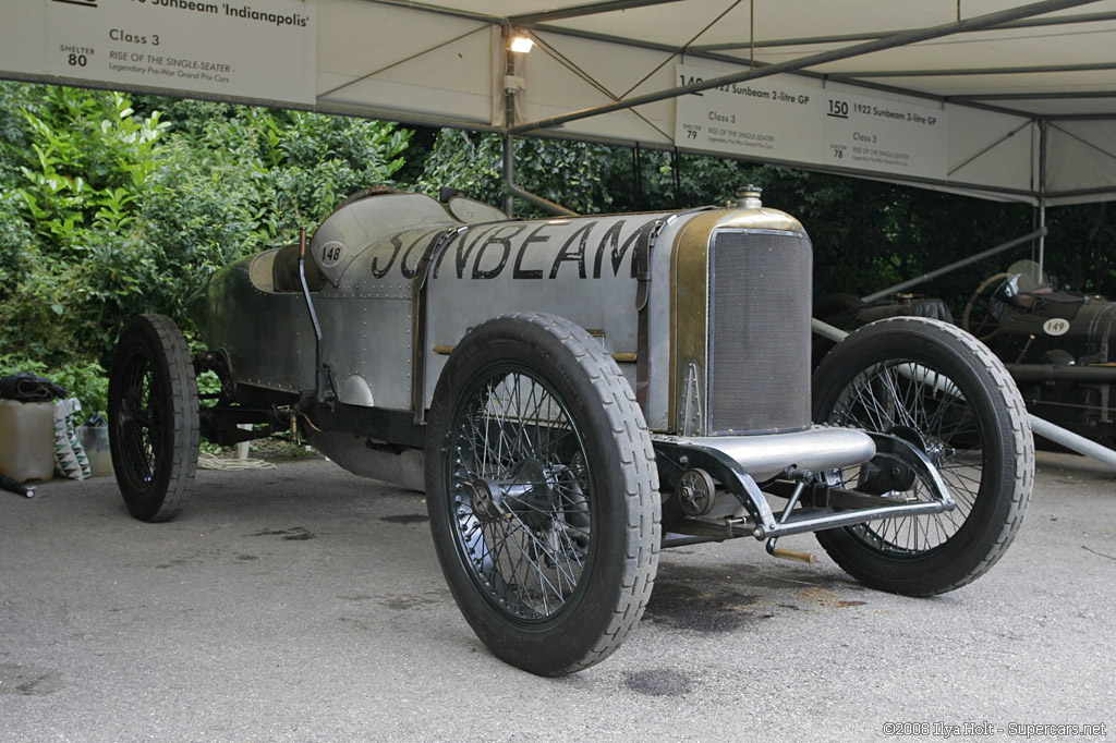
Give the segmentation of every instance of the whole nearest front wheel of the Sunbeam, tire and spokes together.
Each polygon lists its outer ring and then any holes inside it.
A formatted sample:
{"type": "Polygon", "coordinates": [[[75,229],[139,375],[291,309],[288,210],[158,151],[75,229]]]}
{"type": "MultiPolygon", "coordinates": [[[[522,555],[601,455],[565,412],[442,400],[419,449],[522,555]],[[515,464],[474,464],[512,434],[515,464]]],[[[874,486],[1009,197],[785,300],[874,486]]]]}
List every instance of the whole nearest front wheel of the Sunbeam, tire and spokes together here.
{"type": "Polygon", "coordinates": [[[610,655],[658,566],[658,473],[616,363],[559,317],[489,320],[434,393],[426,503],[446,582],[489,649],[559,676],[610,655]]]}

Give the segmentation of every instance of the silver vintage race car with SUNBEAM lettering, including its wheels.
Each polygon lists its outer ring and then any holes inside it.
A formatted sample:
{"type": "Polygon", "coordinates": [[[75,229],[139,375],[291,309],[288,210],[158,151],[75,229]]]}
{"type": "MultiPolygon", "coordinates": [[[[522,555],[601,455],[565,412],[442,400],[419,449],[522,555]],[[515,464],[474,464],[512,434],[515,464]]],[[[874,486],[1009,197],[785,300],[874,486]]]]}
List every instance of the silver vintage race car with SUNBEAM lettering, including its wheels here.
{"type": "Polygon", "coordinates": [[[865,585],[984,573],[1019,529],[1033,450],[988,349],[894,318],[810,373],[811,248],[761,205],[510,220],[372,189],[307,245],[218,271],[204,353],[128,320],[109,386],[128,510],[177,514],[199,437],[294,432],[422,489],[469,624],[527,670],[590,666],[643,614],[661,548],[817,538],[865,585]],[[221,393],[199,399],[195,374],[221,393]],[[812,387],[812,393],[811,393],[812,387]],[[252,431],[238,428],[251,424],[252,431]]]}

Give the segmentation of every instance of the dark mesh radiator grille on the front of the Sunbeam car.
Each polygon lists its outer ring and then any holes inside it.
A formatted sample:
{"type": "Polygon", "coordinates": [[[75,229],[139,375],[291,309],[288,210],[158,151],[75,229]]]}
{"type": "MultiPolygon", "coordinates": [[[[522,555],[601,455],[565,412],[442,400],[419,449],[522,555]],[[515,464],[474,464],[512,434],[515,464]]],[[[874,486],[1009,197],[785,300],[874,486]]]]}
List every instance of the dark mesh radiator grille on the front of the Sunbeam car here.
{"type": "Polygon", "coordinates": [[[709,431],[797,431],[810,424],[809,239],[721,230],[710,247],[709,431]]]}

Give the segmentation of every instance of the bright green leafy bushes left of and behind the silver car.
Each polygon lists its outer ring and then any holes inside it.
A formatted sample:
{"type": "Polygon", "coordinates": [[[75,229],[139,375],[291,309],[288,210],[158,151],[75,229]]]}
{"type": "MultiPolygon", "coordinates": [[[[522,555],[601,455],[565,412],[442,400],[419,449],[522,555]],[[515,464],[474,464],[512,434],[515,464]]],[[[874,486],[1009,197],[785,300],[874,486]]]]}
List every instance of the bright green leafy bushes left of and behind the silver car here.
{"type": "Polygon", "coordinates": [[[189,329],[186,299],[215,267],[389,183],[408,136],[366,119],[0,84],[0,373],[80,382],[74,369],[103,365],[135,312],[189,329]]]}

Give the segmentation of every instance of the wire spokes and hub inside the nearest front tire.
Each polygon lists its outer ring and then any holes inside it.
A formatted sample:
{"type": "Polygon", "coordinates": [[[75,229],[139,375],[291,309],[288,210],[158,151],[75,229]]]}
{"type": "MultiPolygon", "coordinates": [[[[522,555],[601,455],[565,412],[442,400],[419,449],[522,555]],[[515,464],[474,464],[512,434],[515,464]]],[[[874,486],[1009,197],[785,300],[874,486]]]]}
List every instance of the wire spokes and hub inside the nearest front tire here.
{"type": "Polygon", "coordinates": [[[481,590],[508,612],[559,612],[594,535],[585,440],[547,385],[494,370],[464,401],[451,484],[458,538],[481,590]]]}

